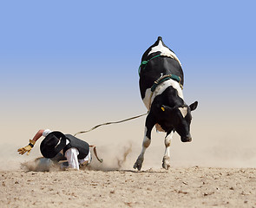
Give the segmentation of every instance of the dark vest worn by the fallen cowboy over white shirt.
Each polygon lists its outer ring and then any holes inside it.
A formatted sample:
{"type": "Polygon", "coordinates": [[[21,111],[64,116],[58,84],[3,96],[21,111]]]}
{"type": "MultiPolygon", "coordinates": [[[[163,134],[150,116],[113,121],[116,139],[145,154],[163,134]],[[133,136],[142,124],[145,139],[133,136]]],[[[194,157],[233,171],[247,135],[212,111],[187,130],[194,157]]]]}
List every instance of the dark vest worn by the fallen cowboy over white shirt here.
{"type": "Polygon", "coordinates": [[[83,140],[79,140],[75,136],[72,136],[71,134],[65,134],[67,140],[69,140],[69,144],[64,147],[63,149],[63,155],[65,155],[66,151],[74,147],[78,150],[79,154],[77,156],[78,159],[84,159],[88,153],[89,153],[89,144],[83,140]]]}

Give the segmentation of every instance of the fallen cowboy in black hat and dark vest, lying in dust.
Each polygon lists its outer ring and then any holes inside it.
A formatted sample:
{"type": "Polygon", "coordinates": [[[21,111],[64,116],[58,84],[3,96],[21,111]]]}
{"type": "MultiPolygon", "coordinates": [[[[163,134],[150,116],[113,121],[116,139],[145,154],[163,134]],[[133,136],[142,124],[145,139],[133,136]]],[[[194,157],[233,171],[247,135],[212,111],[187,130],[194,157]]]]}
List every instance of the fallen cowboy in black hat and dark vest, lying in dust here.
{"type": "Polygon", "coordinates": [[[63,134],[58,131],[39,130],[34,138],[30,140],[28,146],[19,148],[20,154],[30,154],[31,149],[35,146],[36,140],[44,137],[40,145],[40,151],[43,158],[36,159],[37,165],[47,169],[52,164],[60,164],[62,169],[79,170],[81,166],[88,166],[92,160],[90,147],[93,148],[95,157],[100,162],[96,153],[96,146],[89,146],[86,141],[80,140],[71,134],[63,134]]]}

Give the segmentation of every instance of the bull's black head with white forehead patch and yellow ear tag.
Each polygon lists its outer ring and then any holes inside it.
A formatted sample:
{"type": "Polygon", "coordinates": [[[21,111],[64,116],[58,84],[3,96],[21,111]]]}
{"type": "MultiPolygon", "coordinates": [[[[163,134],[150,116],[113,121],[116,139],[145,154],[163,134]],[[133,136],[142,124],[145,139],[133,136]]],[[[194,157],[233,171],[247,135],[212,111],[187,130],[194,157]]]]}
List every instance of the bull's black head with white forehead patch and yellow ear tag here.
{"type": "Polygon", "coordinates": [[[162,105],[162,114],[165,114],[167,127],[174,128],[174,130],[181,136],[182,142],[188,142],[192,140],[190,135],[190,123],[192,120],[191,111],[194,111],[198,105],[198,101],[195,101],[190,106],[182,105],[181,107],[167,107],[162,105]]]}

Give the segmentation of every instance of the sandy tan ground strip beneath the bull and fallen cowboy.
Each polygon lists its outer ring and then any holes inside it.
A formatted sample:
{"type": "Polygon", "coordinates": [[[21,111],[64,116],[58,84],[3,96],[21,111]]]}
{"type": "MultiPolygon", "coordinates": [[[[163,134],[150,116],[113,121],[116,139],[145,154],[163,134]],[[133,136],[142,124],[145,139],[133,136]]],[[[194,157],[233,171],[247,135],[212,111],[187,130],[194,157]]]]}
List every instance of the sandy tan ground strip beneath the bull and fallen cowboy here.
{"type": "Polygon", "coordinates": [[[0,207],[256,207],[255,168],[0,171],[0,207]]]}

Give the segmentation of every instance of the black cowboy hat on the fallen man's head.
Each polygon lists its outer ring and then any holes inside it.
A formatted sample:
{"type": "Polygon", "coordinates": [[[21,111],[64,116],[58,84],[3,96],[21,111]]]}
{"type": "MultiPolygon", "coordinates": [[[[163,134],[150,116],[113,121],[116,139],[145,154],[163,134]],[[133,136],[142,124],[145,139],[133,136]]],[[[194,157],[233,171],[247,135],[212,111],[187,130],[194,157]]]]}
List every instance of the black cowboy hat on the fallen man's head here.
{"type": "Polygon", "coordinates": [[[66,136],[61,132],[51,132],[41,142],[40,151],[44,158],[54,158],[66,146],[66,136]]]}

